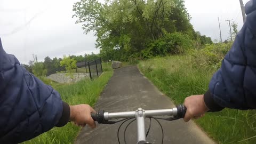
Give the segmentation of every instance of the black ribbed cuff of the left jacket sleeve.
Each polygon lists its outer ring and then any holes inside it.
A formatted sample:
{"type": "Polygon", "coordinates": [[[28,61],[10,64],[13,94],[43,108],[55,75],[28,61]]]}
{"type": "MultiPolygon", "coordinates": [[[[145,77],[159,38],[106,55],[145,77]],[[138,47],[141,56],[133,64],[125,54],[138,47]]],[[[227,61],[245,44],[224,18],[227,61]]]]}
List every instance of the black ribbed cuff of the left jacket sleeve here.
{"type": "Polygon", "coordinates": [[[57,127],[66,125],[68,123],[69,117],[70,117],[70,107],[69,107],[68,103],[62,101],[62,105],[63,105],[62,115],[59,119],[58,124],[55,125],[57,127]]]}

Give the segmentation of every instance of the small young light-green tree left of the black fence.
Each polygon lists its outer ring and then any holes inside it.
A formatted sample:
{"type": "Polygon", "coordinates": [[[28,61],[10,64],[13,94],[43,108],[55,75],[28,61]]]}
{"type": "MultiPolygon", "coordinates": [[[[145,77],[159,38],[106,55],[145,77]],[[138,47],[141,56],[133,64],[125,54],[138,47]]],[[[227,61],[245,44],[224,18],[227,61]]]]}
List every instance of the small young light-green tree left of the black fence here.
{"type": "Polygon", "coordinates": [[[73,78],[73,69],[76,67],[76,60],[74,58],[66,57],[66,55],[63,56],[63,59],[60,61],[60,66],[65,67],[65,69],[68,71],[67,76],[70,78],[73,78]]]}

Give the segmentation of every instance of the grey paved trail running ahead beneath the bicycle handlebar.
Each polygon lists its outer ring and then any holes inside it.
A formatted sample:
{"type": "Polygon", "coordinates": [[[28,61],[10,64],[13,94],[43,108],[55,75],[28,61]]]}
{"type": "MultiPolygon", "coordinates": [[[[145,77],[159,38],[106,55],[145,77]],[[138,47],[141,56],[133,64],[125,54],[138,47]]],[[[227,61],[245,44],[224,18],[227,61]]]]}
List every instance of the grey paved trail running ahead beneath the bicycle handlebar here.
{"type": "MultiPolygon", "coordinates": [[[[113,77],[103,90],[95,109],[105,109],[109,112],[132,111],[143,109],[166,109],[174,107],[170,98],[162,94],[151,82],[145,78],[136,66],[115,69],[113,77]]],[[[214,143],[199,129],[194,122],[185,123],[183,119],[167,122],[160,121],[164,129],[164,143],[214,143]]],[[[148,141],[161,144],[162,132],[159,125],[153,121],[148,141]]],[[[120,124],[98,125],[91,130],[88,127],[79,132],[76,144],[106,143],[117,144],[117,130],[120,124]]],[[[146,121],[148,127],[149,121],[146,121]]],[[[125,126],[123,126],[125,127],[125,126]]],[[[121,143],[123,141],[121,130],[121,143]]],[[[126,132],[127,144],[136,143],[136,123],[131,124],[126,132]]]]}

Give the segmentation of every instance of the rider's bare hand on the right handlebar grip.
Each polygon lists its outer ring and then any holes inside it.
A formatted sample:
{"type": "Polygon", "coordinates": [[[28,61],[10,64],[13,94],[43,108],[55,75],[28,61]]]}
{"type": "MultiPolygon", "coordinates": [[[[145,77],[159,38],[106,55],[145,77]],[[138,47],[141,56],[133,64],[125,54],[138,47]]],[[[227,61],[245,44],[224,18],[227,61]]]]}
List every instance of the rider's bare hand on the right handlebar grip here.
{"type": "Polygon", "coordinates": [[[204,103],[204,95],[191,95],[185,99],[183,104],[187,108],[184,117],[185,122],[188,122],[191,118],[203,117],[206,111],[209,111],[204,103]]]}

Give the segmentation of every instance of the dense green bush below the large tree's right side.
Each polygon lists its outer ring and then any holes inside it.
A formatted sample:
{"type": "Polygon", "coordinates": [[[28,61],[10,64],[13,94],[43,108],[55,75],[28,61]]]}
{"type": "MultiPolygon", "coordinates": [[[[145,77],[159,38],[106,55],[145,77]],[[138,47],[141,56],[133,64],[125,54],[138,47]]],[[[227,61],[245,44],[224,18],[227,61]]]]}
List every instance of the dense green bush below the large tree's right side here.
{"type": "Polygon", "coordinates": [[[147,44],[147,48],[142,50],[143,58],[151,58],[157,55],[165,56],[181,54],[193,45],[188,35],[182,33],[166,33],[162,38],[147,44]]]}

